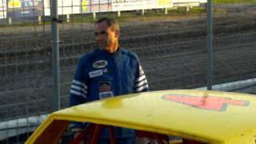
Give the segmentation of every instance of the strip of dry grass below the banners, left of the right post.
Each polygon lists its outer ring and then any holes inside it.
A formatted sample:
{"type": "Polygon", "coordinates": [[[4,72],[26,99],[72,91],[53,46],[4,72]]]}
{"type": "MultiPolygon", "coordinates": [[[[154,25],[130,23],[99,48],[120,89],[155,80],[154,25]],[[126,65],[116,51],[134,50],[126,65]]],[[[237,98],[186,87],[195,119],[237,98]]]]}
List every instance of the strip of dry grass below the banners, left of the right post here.
{"type": "MultiPolygon", "coordinates": [[[[206,13],[205,9],[202,7],[194,7],[193,9],[190,9],[189,12],[186,12],[186,8],[178,8],[175,10],[168,10],[168,14],[164,14],[164,10],[146,10],[145,14],[142,15],[142,12],[140,10],[131,10],[131,11],[123,11],[121,12],[121,17],[118,17],[117,12],[105,12],[105,13],[97,13],[96,17],[102,18],[102,17],[108,17],[108,18],[115,18],[118,20],[118,22],[127,22],[130,19],[152,19],[152,18],[167,18],[167,17],[173,17],[173,16],[182,16],[186,14],[202,14],[206,13]]],[[[43,18],[42,18],[43,19],[43,18]]],[[[66,22],[66,15],[59,15],[60,20],[62,20],[63,23],[66,22]]],[[[83,23],[94,23],[96,22],[96,19],[93,18],[93,14],[70,14],[70,22],[83,22],[83,23]]],[[[45,17],[44,25],[50,24],[50,17],[45,17]]],[[[9,26],[9,25],[2,25],[2,26],[9,26]]],[[[21,19],[16,20],[13,19],[13,25],[12,26],[38,26],[38,22],[22,22],[21,19]]]]}

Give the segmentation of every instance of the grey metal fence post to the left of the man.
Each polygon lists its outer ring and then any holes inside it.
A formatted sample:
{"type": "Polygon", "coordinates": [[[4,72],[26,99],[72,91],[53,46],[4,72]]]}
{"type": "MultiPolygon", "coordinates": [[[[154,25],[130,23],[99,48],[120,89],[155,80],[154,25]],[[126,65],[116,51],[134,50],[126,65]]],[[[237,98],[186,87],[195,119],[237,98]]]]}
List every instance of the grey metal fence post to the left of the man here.
{"type": "Polygon", "coordinates": [[[54,97],[53,110],[60,109],[60,76],[59,76],[59,50],[58,50],[58,0],[50,1],[50,18],[51,18],[51,62],[54,77],[54,97]]]}

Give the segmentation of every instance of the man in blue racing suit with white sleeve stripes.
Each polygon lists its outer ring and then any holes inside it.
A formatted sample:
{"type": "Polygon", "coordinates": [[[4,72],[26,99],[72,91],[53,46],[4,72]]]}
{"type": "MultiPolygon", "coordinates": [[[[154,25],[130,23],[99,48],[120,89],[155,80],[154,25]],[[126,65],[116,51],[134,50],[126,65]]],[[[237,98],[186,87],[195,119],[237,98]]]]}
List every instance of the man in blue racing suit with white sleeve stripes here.
{"type": "MultiPolygon", "coordinates": [[[[149,90],[138,56],[118,45],[118,22],[101,18],[94,29],[99,48],[78,62],[70,89],[70,106],[149,90]]],[[[83,128],[82,122],[74,122],[74,137],[83,128]]],[[[134,143],[134,130],[117,127],[114,134],[118,143],[134,143]]],[[[109,143],[108,137],[108,131],[103,130],[100,143],[109,143]]]]}

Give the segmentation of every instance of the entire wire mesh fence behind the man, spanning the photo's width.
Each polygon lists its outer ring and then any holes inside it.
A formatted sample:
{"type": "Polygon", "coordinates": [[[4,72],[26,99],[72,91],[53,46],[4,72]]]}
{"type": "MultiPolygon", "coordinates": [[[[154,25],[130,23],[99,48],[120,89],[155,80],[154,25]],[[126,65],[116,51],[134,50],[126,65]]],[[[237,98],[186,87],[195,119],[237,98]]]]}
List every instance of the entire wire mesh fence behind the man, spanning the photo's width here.
{"type": "MultiPolygon", "coordinates": [[[[0,143],[22,143],[54,110],[50,16],[44,1],[24,1],[32,6],[18,9],[22,17],[3,7],[18,5],[15,0],[0,2],[0,143]]],[[[138,54],[150,90],[206,89],[205,6],[63,13],[58,18],[61,108],[68,106],[78,59],[95,49],[95,17],[118,19],[120,45],[138,54]]],[[[213,4],[214,90],[256,93],[255,14],[255,3],[213,4]]]]}

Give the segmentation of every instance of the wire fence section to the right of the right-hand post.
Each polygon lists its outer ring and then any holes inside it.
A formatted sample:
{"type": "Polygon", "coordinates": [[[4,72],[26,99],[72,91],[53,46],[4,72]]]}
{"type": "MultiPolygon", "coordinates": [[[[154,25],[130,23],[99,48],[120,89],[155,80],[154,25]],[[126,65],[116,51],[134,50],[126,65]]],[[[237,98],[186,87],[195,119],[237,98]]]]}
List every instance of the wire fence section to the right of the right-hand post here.
{"type": "Polygon", "coordinates": [[[214,84],[222,84],[219,90],[256,93],[255,8],[255,3],[214,4],[214,84]]]}

